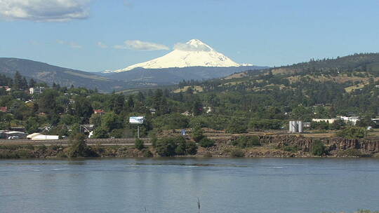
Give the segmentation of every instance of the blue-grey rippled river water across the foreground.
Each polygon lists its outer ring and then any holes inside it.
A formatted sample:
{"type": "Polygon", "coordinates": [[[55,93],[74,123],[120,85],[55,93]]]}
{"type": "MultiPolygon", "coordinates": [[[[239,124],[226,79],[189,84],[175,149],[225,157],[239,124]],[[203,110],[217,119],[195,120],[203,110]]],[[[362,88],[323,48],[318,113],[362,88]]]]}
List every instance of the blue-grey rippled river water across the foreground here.
{"type": "Polygon", "coordinates": [[[373,158],[0,160],[0,212],[379,209],[373,158]]]}

